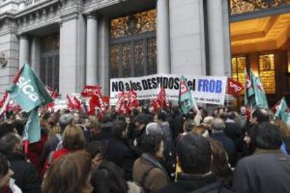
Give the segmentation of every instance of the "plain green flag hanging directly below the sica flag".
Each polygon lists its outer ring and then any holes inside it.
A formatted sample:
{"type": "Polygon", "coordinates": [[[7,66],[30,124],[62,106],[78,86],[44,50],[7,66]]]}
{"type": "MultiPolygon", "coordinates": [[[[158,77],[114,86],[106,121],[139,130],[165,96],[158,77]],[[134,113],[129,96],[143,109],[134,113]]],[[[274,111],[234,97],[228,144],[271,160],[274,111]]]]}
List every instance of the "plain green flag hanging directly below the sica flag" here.
{"type": "Polygon", "coordinates": [[[39,108],[36,107],[29,113],[25,130],[22,136],[23,141],[28,140],[29,143],[35,143],[41,139],[41,127],[39,124],[39,108]]]}

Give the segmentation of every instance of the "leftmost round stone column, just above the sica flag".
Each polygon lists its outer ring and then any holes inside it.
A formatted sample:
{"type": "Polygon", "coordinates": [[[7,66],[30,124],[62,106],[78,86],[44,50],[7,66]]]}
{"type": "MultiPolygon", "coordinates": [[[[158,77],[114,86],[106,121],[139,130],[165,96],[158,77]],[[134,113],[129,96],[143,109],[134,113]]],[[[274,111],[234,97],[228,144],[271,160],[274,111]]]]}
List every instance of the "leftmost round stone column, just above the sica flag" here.
{"type": "Polygon", "coordinates": [[[29,62],[29,39],[27,35],[21,35],[19,41],[19,68],[29,62]]]}

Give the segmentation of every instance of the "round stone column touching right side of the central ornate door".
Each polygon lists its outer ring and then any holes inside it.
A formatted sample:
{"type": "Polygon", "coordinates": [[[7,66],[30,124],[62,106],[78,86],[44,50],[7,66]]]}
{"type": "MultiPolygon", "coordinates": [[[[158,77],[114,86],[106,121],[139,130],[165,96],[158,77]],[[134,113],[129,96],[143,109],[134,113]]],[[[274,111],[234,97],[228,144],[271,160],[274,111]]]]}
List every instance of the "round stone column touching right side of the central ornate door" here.
{"type": "Polygon", "coordinates": [[[169,0],[157,1],[157,72],[170,73],[169,0]]]}

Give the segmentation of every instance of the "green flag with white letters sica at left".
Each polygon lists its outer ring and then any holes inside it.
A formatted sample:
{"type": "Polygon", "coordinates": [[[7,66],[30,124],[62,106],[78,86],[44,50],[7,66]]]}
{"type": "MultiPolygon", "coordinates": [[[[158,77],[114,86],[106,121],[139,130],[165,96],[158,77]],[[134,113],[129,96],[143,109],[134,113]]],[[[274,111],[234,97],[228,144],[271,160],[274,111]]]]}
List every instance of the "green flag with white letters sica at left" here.
{"type": "Polygon", "coordinates": [[[26,112],[53,101],[38,76],[25,64],[8,87],[11,100],[18,103],[26,112]]]}

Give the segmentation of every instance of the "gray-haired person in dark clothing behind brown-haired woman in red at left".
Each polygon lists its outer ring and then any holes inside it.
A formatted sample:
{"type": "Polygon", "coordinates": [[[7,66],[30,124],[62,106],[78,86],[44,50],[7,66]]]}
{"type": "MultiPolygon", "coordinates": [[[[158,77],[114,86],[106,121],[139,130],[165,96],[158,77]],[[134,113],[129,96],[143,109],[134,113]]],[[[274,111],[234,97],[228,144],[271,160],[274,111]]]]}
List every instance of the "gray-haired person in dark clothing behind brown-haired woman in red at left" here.
{"type": "Polygon", "coordinates": [[[52,136],[43,146],[43,150],[41,152],[41,157],[39,159],[39,164],[41,168],[43,167],[43,164],[46,162],[46,159],[48,158],[48,155],[50,155],[50,152],[53,152],[57,149],[57,145],[62,142],[62,133],[64,129],[69,125],[73,124],[74,116],[71,115],[71,113],[64,113],[60,116],[58,119],[58,124],[60,125],[60,134],[55,134],[52,136]]]}

